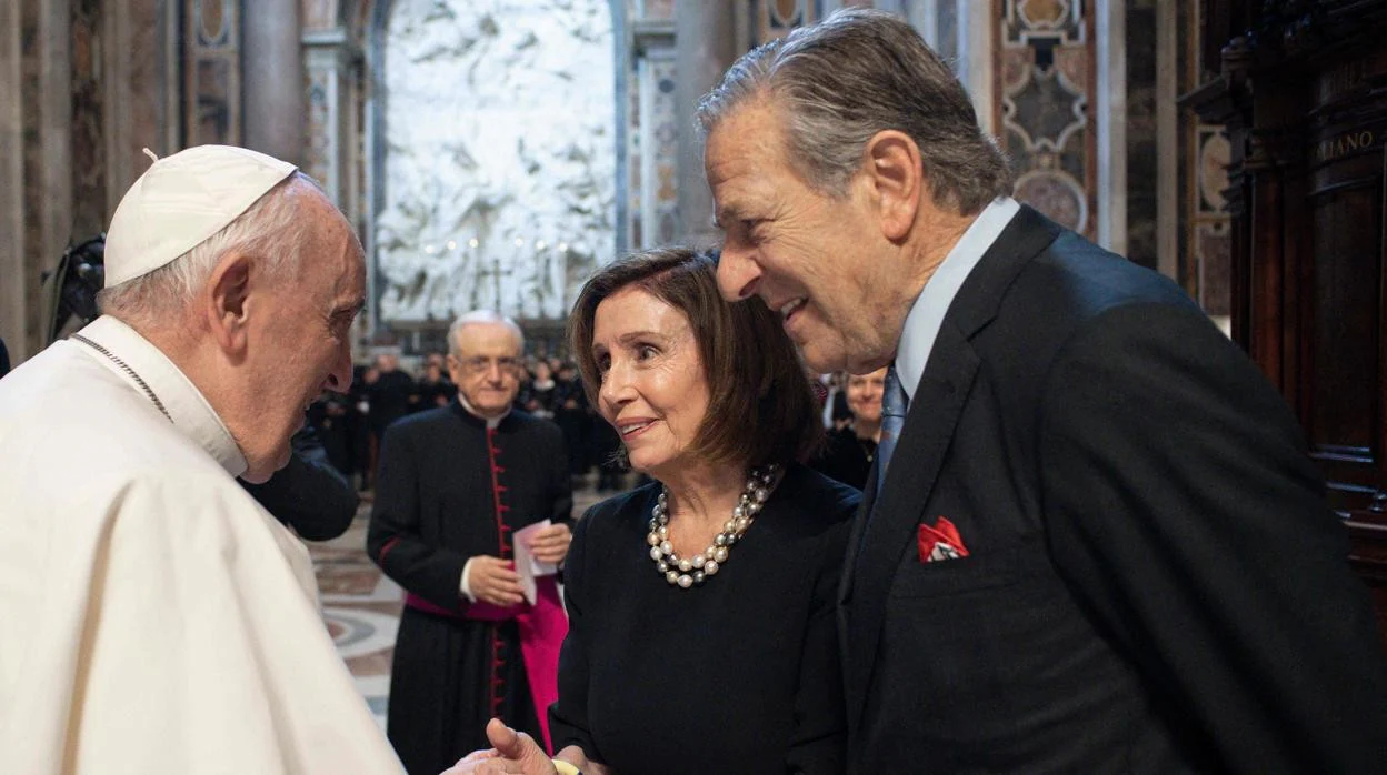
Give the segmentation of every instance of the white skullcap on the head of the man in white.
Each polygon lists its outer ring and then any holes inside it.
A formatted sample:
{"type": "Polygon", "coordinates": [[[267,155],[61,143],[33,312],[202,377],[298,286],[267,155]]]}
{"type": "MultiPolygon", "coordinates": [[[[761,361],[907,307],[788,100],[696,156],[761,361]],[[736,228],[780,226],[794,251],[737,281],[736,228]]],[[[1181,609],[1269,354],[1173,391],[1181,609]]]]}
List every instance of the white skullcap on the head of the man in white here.
{"type": "Polygon", "coordinates": [[[154,272],[221,232],[297,166],[245,148],[197,146],[154,164],[105,233],[105,287],[154,272]]]}

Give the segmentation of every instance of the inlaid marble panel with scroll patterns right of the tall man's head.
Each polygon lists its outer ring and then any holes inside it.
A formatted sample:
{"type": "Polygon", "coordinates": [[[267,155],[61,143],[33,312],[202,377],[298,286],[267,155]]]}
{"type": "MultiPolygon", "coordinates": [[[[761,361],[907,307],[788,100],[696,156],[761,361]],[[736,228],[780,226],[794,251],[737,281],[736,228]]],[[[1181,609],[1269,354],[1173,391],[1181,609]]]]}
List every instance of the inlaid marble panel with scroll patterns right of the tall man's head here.
{"type": "Polygon", "coordinates": [[[1096,233],[1093,17],[1078,0],[997,0],[997,126],[1018,200],[1096,233]]]}

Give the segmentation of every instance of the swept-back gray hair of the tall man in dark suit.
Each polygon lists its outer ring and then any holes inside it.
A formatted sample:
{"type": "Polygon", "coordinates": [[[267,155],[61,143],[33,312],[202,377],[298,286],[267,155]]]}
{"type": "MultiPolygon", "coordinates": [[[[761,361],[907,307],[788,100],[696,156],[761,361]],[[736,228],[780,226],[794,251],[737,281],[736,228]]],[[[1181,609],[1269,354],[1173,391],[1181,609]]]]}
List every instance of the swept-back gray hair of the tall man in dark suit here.
{"type": "Polygon", "coordinates": [[[785,121],[789,162],[814,190],[843,197],[878,132],[920,146],[935,205],[979,212],[1013,189],[996,141],[968,93],[904,19],[845,8],[742,55],[698,105],[702,137],[738,108],[763,101],[785,121]]]}

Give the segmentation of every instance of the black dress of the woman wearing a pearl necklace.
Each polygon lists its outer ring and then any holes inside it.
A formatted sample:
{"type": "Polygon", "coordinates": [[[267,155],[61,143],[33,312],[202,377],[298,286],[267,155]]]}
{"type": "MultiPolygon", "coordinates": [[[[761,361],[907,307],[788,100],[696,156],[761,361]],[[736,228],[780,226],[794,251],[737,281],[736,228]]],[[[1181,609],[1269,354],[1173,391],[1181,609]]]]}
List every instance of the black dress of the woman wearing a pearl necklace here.
{"type": "Polygon", "coordinates": [[[659,484],[598,503],[565,570],[555,749],[620,775],[841,774],[834,603],[859,494],[791,466],[717,575],[670,585],[646,543],[659,484]]]}

